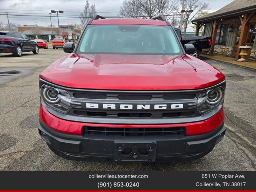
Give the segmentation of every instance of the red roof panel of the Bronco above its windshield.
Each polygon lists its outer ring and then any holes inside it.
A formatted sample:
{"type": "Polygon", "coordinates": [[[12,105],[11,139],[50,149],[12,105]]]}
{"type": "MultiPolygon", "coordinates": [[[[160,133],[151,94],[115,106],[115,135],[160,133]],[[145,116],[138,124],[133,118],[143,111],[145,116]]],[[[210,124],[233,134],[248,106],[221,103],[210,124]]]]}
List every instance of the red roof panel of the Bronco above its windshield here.
{"type": "Polygon", "coordinates": [[[93,20],[91,25],[111,25],[111,24],[130,24],[130,25],[162,25],[168,26],[165,21],[162,20],[152,20],[152,19],[99,19],[93,20]]]}

